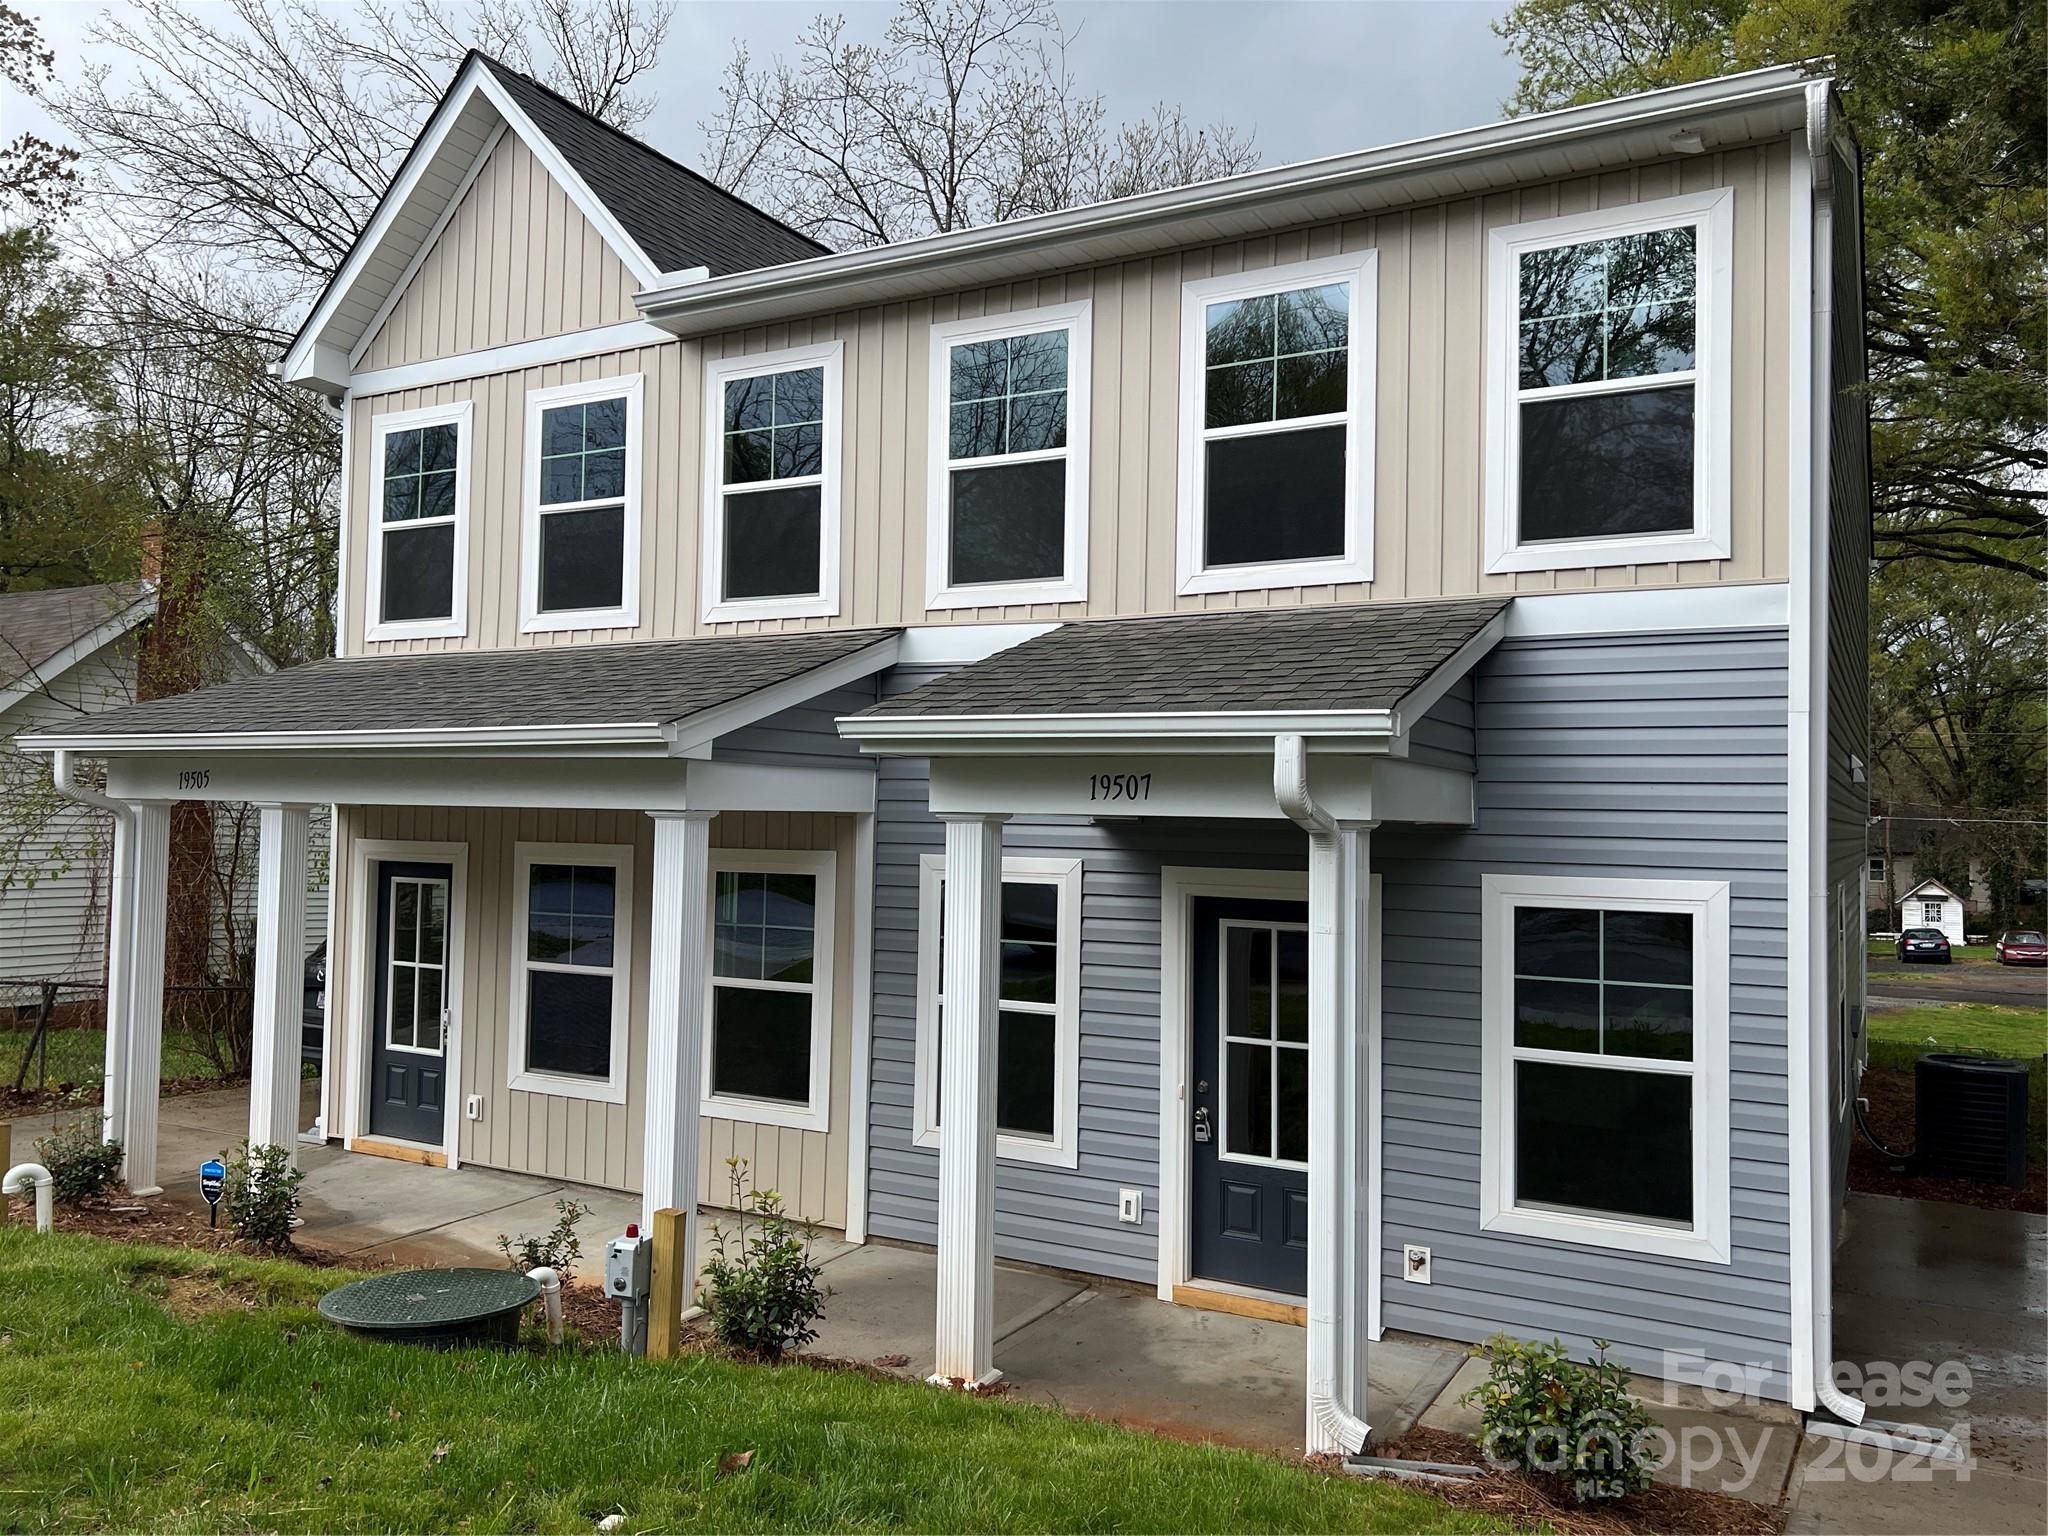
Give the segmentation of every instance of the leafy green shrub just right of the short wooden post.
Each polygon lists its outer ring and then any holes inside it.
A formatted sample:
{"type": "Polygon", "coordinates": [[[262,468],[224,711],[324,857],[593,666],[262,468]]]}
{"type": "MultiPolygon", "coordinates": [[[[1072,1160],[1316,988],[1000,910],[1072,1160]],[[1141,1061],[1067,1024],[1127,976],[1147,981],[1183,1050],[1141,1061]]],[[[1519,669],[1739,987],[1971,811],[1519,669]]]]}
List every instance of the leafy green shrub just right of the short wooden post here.
{"type": "Polygon", "coordinates": [[[780,1360],[817,1337],[825,1296],[817,1280],[823,1268],[811,1260],[815,1229],[782,1210],[774,1190],[745,1190],[743,1157],[725,1159],[733,1204],[741,1219],[733,1231],[711,1229],[715,1257],[705,1264],[709,1282],[698,1305],[711,1315],[711,1331],[731,1350],[762,1360],[780,1360]]]}

